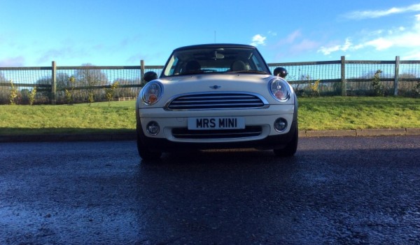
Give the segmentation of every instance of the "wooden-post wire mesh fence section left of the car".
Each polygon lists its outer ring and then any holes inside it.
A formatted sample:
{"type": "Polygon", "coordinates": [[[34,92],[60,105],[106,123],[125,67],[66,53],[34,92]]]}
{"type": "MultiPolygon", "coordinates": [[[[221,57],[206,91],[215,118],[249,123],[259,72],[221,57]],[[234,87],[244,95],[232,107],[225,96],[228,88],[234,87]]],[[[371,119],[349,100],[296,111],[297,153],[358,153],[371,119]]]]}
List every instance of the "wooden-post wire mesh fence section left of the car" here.
{"type": "Polygon", "coordinates": [[[0,104],[10,104],[12,90],[17,93],[15,104],[29,104],[34,90],[36,104],[135,99],[146,71],[160,74],[162,66],[0,67],[0,104]]]}

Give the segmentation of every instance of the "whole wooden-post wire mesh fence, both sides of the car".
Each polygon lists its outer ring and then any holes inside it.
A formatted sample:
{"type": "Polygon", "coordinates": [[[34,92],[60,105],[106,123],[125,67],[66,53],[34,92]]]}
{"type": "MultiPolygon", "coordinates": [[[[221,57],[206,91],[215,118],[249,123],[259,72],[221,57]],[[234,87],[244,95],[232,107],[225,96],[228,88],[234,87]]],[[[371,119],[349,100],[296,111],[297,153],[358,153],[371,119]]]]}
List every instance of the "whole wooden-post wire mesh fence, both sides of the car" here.
{"type": "MultiPolygon", "coordinates": [[[[274,71],[288,70],[287,80],[299,96],[369,96],[374,90],[383,95],[420,96],[420,61],[346,60],[325,62],[270,63],[274,71]],[[375,73],[379,85],[372,87],[375,73]]],[[[36,87],[36,104],[69,104],[106,101],[106,91],[118,82],[114,99],[137,97],[146,71],[160,76],[163,66],[52,66],[0,67],[0,104],[10,104],[11,83],[18,92],[17,104],[28,104],[29,92],[36,87]]]]}

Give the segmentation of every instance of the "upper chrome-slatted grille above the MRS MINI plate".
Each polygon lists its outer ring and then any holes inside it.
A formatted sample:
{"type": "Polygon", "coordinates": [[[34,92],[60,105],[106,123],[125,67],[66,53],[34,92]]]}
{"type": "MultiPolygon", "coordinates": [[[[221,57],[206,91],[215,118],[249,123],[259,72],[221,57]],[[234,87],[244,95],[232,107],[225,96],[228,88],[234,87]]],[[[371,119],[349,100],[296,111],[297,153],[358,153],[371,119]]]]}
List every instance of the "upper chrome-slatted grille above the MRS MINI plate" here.
{"type": "Polygon", "coordinates": [[[204,109],[255,109],[265,103],[255,94],[244,93],[202,93],[186,94],[169,102],[169,110],[204,110],[204,109]]]}

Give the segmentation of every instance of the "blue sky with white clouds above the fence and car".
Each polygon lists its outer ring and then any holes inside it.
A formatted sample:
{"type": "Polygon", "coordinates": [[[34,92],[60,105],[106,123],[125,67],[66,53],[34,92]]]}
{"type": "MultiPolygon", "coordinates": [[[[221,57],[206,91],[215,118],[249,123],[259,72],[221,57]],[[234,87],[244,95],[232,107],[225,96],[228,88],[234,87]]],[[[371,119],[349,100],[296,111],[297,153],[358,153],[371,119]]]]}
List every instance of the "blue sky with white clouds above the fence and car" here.
{"type": "Polygon", "coordinates": [[[420,1],[0,0],[0,66],[164,64],[174,48],[257,46],[269,63],[420,59],[420,1]]]}

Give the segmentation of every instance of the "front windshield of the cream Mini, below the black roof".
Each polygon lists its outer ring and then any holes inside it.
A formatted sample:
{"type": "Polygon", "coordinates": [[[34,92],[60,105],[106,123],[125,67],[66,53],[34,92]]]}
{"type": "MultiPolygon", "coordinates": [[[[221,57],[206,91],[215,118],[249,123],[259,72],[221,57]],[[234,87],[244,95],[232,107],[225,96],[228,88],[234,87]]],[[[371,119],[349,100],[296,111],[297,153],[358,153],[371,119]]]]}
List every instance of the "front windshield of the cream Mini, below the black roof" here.
{"type": "Polygon", "coordinates": [[[193,48],[175,50],[161,74],[183,76],[200,73],[262,73],[269,69],[255,48],[193,48]]]}

